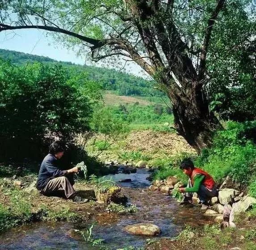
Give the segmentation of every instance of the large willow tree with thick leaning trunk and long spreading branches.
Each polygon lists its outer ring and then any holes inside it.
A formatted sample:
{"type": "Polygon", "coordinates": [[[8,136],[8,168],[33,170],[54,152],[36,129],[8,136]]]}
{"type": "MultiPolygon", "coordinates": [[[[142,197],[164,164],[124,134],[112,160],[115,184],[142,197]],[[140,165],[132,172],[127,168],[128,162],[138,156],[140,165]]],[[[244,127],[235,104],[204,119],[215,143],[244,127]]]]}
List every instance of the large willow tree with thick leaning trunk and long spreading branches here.
{"type": "Polygon", "coordinates": [[[94,61],[121,56],[137,63],[168,93],[178,133],[200,151],[219,126],[206,91],[214,28],[229,8],[236,15],[251,6],[244,0],[5,0],[0,31],[43,29],[80,53],[90,51],[94,61]]]}

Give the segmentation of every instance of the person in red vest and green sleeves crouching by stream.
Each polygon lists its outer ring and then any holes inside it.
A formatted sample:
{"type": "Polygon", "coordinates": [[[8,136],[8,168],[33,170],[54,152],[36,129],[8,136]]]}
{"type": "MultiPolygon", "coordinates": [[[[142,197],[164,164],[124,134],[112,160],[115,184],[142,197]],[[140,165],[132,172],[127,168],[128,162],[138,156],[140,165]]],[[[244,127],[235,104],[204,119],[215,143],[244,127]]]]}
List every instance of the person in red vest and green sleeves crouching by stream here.
{"type": "Polygon", "coordinates": [[[218,196],[214,179],[205,171],[194,166],[191,159],[185,158],[180,169],[189,176],[187,187],[180,187],[178,190],[185,193],[184,202],[192,202],[193,193],[196,192],[201,204],[207,205],[209,200],[218,196]]]}

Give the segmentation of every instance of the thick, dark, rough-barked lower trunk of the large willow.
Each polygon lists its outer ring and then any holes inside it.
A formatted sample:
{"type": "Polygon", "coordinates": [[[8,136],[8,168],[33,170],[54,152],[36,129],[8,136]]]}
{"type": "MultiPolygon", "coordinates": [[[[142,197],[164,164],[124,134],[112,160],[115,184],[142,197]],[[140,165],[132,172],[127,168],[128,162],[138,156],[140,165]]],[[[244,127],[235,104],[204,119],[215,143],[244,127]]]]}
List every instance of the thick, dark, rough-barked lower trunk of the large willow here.
{"type": "MultiPolygon", "coordinates": [[[[193,85],[197,86],[196,83],[193,85]]],[[[169,96],[177,132],[200,153],[212,144],[214,130],[221,127],[217,117],[209,110],[208,99],[197,87],[190,87],[186,92],[184,90],[175,95],[170,92],[169,96]]]]}

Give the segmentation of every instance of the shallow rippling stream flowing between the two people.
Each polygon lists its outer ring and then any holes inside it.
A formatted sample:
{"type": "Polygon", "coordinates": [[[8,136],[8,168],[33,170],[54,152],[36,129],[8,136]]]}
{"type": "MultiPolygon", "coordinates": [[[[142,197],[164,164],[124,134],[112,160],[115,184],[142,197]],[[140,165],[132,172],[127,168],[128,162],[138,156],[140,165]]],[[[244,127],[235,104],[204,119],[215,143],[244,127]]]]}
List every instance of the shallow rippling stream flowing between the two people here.
{"type": "MultiPolygon", "coordinates": [[[[126,225],[148,222],[158,225],[161,234],[158,237],[175,237],[185,224],[196,226],[210,223],[209,217],[204,217],[198,207],[179,206],[171,196],[160,192],[149,192],[150,175],[146,169],[138,169],[134,174],[122,174],[112,177],[124,189],[130,204],[136,204],[138,212],[118,215],[113,213],[98,214],[97,224],[92,229],[96,239],[104,239],[104,246],[118,249],[127,246],[143,246],[149,237],[135,236],[126,233],[126,225]],[[131,182],[120,182],[131,179],[131,182]]],[[[88,224],[89,225],[89,224],[88,224]]],[[[74,225],[61,223],[38,222],[9,230],[0,235],[0,250],[94,250],[99,246],[90,246],[83,241],[67,236],[74,225]]]]}

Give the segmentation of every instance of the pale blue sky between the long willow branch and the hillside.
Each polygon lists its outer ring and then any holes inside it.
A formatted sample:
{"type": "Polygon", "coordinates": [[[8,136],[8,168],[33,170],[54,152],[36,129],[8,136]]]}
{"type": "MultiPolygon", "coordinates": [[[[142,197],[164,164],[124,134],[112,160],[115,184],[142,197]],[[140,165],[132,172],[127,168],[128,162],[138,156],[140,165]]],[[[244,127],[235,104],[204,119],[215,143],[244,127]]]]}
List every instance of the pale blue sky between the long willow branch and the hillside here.
{"type": "MultiPolygon", "coordinates": [[[[76,64],[89,64],[86,62],[84,55],[78,57],[76,51],[68,50],[62,44],[56,42],[51,36],[46,36],[46,31],[38,29],[16,30],[0,32],[0,49],[15,50],[28,54],[47,56],[58,61],[67,61],[76,64]]],[[[101,67],[102,63],[94,64],[101,67]]],[[[125,65],[125,61],[121,60],[119,69],[125,65]]],[[[111,65],[105,65],[111,67],[111,65]]],[[[126,63],[123,71],[133,75],[147,77],[141,68],[135,63],[126,63]]]]}

